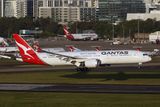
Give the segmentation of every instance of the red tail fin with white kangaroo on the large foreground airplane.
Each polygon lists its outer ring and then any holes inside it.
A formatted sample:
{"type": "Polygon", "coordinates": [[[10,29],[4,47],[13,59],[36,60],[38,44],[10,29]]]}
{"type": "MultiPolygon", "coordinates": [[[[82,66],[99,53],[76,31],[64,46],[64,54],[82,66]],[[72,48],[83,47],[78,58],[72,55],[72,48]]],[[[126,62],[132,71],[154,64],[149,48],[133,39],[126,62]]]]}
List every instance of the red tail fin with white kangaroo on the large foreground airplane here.
{"type": "Polygon", "coordinates": [[[18,34],[13,34],[13,38],[16,41],[17,47],[20,51],[20,55],[24,62],[44,65],[45,63],[38,57],[33,48],[18,34]]]}

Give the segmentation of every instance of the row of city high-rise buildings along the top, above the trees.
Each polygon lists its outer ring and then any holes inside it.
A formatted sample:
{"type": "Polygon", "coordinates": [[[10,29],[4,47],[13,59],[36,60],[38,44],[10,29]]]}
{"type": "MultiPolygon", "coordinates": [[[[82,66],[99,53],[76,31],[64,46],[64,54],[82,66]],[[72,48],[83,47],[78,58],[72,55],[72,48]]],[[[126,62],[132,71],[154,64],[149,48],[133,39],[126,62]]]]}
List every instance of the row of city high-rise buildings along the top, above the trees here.
{"type": "Polygon", "coordinates": [[[1,17],[53,18],[55,21],[126,20],[128,13],[149,13],[160,0],[1,0],[1,17]]]}

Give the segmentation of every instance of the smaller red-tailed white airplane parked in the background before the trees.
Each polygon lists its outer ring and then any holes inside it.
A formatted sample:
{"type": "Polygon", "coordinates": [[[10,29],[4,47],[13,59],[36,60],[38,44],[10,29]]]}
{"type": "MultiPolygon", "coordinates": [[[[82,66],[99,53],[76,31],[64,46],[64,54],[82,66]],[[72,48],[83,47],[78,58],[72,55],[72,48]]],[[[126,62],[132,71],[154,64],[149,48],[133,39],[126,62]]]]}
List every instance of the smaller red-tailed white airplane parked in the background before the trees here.
{"type": "Polygon", "coordinates": [[[67,27],[63,27],[65,38],[68,40],[98,40],[98,35],[96,33],[79,33],[79,34],[71,34],[67,27]]]}

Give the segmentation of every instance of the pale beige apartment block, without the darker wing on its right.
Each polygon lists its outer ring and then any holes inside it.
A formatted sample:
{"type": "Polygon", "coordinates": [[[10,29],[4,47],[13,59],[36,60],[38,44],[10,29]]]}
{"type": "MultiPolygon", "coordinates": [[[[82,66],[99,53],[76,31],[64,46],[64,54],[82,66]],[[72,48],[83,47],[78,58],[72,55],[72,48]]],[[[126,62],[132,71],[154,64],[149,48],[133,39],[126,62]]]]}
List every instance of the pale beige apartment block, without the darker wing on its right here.
{"type": "Polygon", "coordinates": [[[58,22],[80,21],[79,9],[78,7],[40,7],[39,17],[53,18],[58,22]]]}

